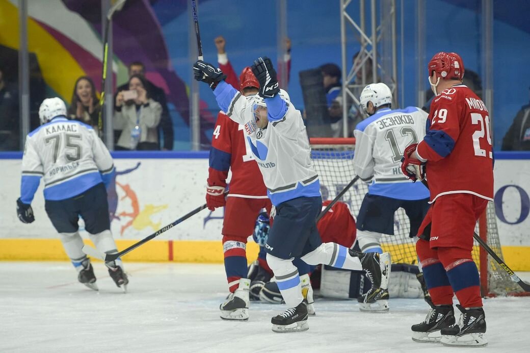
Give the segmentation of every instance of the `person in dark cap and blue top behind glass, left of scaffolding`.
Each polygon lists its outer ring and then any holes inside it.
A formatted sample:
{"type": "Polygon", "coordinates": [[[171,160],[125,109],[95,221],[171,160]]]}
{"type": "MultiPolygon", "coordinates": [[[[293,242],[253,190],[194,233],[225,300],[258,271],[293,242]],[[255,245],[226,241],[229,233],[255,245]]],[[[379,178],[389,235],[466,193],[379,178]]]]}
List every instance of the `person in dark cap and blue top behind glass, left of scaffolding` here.
{"type": "Polygon", "coordinates": [[[320,69],[328,103],[332,137],[339,137],[342,135],[342,83],[340,82],[342,71],[339,66],[331,63],[320,66],[320,69]]]}

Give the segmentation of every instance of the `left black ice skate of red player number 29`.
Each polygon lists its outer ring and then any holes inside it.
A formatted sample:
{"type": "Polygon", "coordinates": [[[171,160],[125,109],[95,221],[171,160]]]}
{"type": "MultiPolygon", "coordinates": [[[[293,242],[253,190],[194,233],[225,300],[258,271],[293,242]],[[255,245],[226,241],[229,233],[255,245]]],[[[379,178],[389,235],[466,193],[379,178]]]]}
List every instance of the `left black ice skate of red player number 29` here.
{"type": "Polygon", "coordinates": [[[412,340],[416,342],[439,342],[440,330],[455,323],[453,305],[432,305],[429,313],[420,324],[412,325],[412,340]]]}

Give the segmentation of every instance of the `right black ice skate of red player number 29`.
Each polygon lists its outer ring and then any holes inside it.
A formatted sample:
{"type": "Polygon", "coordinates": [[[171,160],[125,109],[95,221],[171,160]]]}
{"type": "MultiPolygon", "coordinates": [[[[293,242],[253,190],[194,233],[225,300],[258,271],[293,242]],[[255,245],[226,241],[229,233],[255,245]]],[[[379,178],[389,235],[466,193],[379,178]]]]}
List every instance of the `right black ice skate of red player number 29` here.
{"type": "Polygon", "coordinates": [[[484,309],[466,309],[460,304],[456,304],[458,310],[462,312],[460,320],[448,328],[441,329],[440,342],[444,346],[451,347],[484,347],[488,341],[484,337],[486,332],[486,320],[484,309]]]}

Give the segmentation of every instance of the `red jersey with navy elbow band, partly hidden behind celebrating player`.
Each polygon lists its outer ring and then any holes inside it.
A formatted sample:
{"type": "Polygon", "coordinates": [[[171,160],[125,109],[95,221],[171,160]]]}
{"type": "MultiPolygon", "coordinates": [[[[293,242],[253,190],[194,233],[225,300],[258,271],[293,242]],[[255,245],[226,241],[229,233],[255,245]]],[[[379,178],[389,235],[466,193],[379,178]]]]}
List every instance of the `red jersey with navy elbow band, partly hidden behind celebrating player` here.
{"type": "Polygon", "coordinates": [[[232,169],[229,195],[267,197],[267,188],[248,143],[243,126],[219,112],[211,139],[208,185],[226,186],[228,170],[232,169]]]}

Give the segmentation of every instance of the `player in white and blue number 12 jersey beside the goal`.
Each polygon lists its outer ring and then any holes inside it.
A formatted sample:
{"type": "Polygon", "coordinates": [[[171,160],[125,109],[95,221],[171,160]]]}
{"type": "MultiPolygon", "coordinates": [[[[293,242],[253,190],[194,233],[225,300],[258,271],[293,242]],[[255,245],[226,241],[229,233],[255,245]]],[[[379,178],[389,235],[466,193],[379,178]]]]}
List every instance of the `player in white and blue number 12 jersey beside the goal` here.
{"type": "MultiPolygon", "coordinates": [[[[381,235],[394,234],[394,212],[403,208],[410,220],[410,237],[416,237],[429,208],[429,191],[410,183],[401,173],[405,147],[425,136],[427,113],[417,107],[391,109],[392,92],[384,83],[367,85],[360,105],[369,115],[357,124],[354,169],[368,183],[357,216],[357,242],[363,253],[381,254],[381,235]]],[[[359,297],[363,311],[388,311],[388,290],[359,297]]],[[[426,299],[427,300],[427,299],[426,299]]]]}

